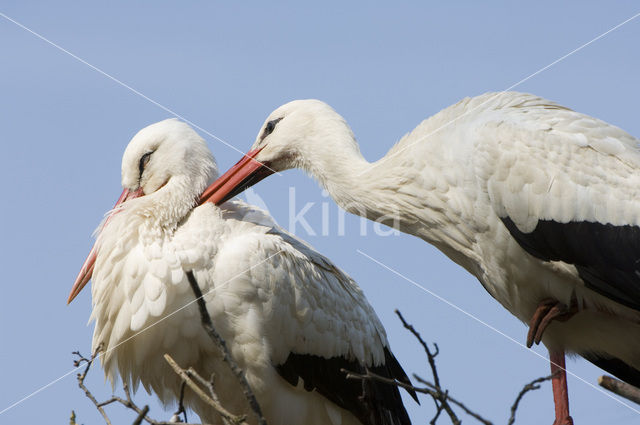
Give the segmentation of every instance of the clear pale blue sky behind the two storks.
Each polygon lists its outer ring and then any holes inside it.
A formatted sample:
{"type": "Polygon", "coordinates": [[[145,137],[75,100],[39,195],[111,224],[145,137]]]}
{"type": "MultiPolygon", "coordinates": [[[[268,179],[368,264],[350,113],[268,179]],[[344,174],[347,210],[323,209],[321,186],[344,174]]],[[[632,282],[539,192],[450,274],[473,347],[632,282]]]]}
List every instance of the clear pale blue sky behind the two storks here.
{"type": "MultiPolygon", "coordinates": [[[[289,100],[318,98],[350,123],[365,157],[375,160],[421,120],[465,96],[504,90],[640,12],[636,2],[244,3],[151,1],[4,2],[0,10],[62,48],[196,123],[240,151],[264,118],[289,100]]],[[[640,18],[516,87],[593,115],[640,136],[640,18]]],[[[120,159],[135,132],[169,112],[117,84],[34,34],[0,17],[0,122],[4,199],[0,266],[0,410],[72,369],[71,351],[89,352],[90,292],[65,300],[91,246],[91,233],[120,193],[120,159]]],[[[226,169],[239,153],[200,131],[226,169]]],[[[443,384],[455,397],[505,423],[522,385],[548,363],[521,345],[526,327],[478,282],[435,248],[407,235],[380,236],[347,217],[297,171],[255,189],[283,226],[295,209],[316,235],[298,236],[333,259],[362,286],[405,369],[428,377],[426,359],[402,329],[399,308],[440,347],[443,384]],[[322,211],[329,212],[323,235],[322,211]],[[360,250],[360,252],[358,252],[360,250]],[[365,253],[449,300],[471,319],[365,253]],[[508,336],[509,338],[505,337],[508,336]]],[[[587,362],[568,369],[595,384],[587,362]]],[[[90,387],[110,395],[102,373],[90,387]]],[[[637,423],[639,413],[577,378],[569,378],[577,424],[637,423]]],[[[139,392],[151,414],[169,414],[139,392]]],[[[433,404],[407,401],[415,423],[433,404]]],[[[634,407],[637,410],[637,406],[634,407]]],[[[76,387],[75,374],[0,414],[0,423],[101,423],[76,387]]],[[[127,423],[123,409],[109,410],[127,423]]],[[[528,395],[520,424],[551,423],[550,385],[528,395]]],[[[442,423],[445,423],[444,421],[442,423]]],[[[465,423],[472,423],[466,419],[465,423]]]]}

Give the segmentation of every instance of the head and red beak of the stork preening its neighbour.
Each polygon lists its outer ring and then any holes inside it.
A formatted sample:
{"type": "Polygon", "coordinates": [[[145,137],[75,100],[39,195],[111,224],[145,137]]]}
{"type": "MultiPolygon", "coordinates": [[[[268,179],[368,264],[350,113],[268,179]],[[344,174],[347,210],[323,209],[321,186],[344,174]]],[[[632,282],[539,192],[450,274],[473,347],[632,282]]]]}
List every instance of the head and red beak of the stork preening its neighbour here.
{"type": "Polygon", "coordinates": [[[220,204],[290,168],[319,175],[318,164],[340,160],[348,151],[359,153],[359,148],[342,116],[320,100],[294,100],[267,117],[251,150],[205,190],[200,202],[220,204]]]}

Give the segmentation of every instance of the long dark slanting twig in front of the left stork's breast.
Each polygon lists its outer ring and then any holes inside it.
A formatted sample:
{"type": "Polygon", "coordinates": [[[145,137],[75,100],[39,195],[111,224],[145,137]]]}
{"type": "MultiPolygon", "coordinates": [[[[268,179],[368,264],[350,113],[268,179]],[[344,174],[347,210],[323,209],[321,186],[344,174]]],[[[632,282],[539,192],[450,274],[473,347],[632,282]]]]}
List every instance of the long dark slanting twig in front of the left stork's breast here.
{"type": "Polygon", "coordinates": [[[193,293],[196,297],[196,301],[198,302],[198,309],[200,310],[200,320],[202,321],[202,326],[207,331],[207,334],[209,335],[213,343],[220,349],[220,351],[222,351],[223,359],[227,363],[227,365],[229,365],[231,372],[233,372],[233,374],[238,379],[238,382],[242,387],[242,392],[244,393],[245,398],[249,402],[249,406],[251,407],[251,410],[253,410],[253,413],[258,419],[258,424],[267,425],[267,421],[262,415],[262,409],[260,409],[260,404],[258,404],[258,400],[256,399],[256,396],[253,393],[253,390],[249,386],[249,383],[247,382],[247,378],[245,377],[244,372],[233,360],[233,357],[231,357],[231,353],[227,348],[226,342],[213,326],[213,322],[211,321],[211,316],[209,316],[209,313],[207,312],[207,306],[204,303],[202,291],[200,291],[200,287],[198,286],[198,282],[196,282],[196,278],[193,276],[193,272],[191,271],[187,272],[187,279],[189,280],[189,284],[191,285],[191,290],[193,290],[193,293]]]}

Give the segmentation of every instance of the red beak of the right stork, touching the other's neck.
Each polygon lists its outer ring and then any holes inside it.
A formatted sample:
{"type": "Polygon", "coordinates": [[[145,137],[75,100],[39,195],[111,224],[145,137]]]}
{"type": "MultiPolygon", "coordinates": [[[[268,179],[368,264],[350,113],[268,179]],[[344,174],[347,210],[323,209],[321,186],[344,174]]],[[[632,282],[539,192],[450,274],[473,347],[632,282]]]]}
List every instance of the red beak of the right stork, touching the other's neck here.
{"type": "Polygon", "coordinates": [[[273,170],[267,165],[254,159],[261,150],[259,148],[247,152],[236,165],[213,182],[200,195],[200,204],[213,202],[220,205],[273,174],[273,170]]]}

